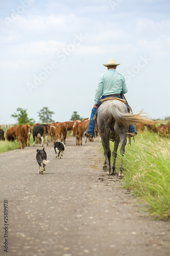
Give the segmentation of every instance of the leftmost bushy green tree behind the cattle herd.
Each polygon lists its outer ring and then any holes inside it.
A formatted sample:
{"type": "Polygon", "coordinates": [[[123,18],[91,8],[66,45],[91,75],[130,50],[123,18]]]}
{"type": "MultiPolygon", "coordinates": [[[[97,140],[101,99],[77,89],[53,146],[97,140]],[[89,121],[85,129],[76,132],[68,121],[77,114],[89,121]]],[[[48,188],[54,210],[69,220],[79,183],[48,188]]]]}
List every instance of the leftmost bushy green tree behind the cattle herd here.
{"type": "Polygon", "coordinates": [[[12,114],[11,117],[14,117],[17,120],[17,124],[30,124],[34,125],[35,120],[33,118],[28,118],[27,110],[17,108],[16,113],[12,114]]]}

